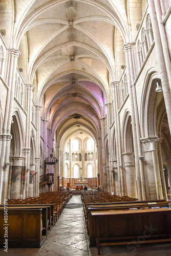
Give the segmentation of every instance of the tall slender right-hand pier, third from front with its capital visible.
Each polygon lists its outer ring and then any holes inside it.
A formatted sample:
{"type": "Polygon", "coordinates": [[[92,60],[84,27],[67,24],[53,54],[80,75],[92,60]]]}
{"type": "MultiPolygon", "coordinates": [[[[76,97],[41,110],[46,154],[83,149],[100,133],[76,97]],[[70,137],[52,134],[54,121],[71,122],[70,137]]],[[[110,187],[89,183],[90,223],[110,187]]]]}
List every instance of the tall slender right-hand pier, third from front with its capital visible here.
{"type": "Polygon", "coordinates": [[[109,175],[110,175],[110,191],[114,191],[114,180],[113,180],[113,166],[112,166],[112,137],[111,137],[111,103],[105,104],[107,109],[107,123],[108,123],[108,145],[109,145],[109,175]]]}

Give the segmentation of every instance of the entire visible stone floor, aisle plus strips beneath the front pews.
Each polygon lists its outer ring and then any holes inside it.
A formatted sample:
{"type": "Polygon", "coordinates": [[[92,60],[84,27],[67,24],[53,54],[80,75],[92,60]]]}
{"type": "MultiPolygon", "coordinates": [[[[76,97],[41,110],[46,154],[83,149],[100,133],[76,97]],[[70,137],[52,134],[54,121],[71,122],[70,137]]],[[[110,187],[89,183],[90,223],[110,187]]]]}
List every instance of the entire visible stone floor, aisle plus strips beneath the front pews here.
{"type": "MultiPolygon", "coordinates": [[[[97,248],[89,248],[80,196],[73,196],[41,248],[0,249],[0,255],[22,256],[97,256],[97,248]]],[[[171,243],[103,246],[105,256],[169,256],[171,243]]]]}

